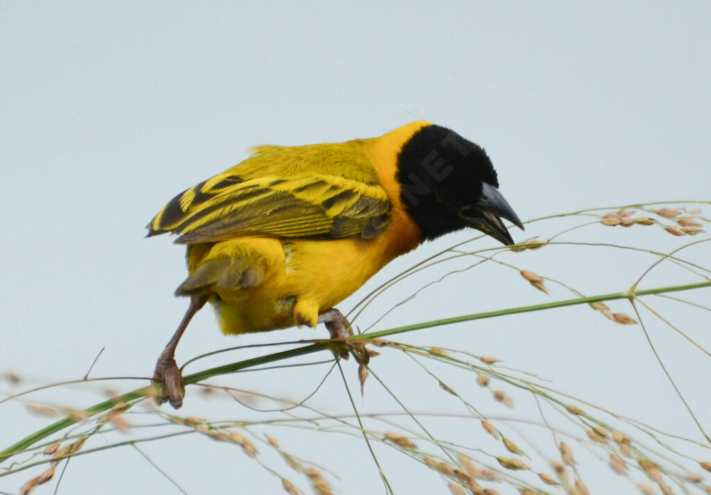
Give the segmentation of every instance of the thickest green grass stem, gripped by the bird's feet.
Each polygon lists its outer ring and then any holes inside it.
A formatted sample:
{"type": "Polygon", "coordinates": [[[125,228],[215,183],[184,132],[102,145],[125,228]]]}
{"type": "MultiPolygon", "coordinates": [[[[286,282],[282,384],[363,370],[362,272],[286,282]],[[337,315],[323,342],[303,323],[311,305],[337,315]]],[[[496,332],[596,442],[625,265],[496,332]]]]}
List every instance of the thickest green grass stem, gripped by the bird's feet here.
{"type": "MultiPolygon", "coordinates": [[[[390,330],[383,330],[381,332],[372,332],[372,333],[363,334],[363,335],[356,335],[355,337],[351,337],[351,340],[353,340],[353,341],[369,341],[371,339],[375,339],[378,337],[386,337],[386,336],[392,335],[392,334],[398,334],[398,333],[402,333],[402,332],[411,332],[412,330],[421,330],[423,328],[437,327],[439,325],[450,325],[452,323],[466,322],[466,321],[471,321],[471,320],[482,320],[483,318],[491,318],[491,317],[503,316],[503,315],[515,315],[515,314],[522,313],[522,312],[548,310],[551,308],[562,308],[564,306],[597,303],[598,301],[606,301],[606,300],[631,299],[631,298],[639,297],[642,295],[669,293],[669,292],[676,292],[678,290],[692,290],[692,289],[705,288],[705,287],[711,287],[711,282],[691,283],[688,285],[672,285],[669,287],[660,287],[660,288],[653,288],[653,289],[647,289],[647,290],[636,290],[634,292],[627,291],[627,292],[621,292],[621,293],[595,295],[595,296],[592,296],[589,298],[567,299],[567,300],[562,300],[562,301],[556,301],[554,303],[545,303],[545,304],[538,304],[538,305],[531,305],[531,306],[521,306],[519,308],[508,308],[506,310],[479,312],[479,313],[475,313],[474,315],[464,315],[464,316],[458,316],[458,317],[444,318],[443,320],[433,320],[430,322],[422,322],[422,323],[417,323],[415,325],[407,325],[405,327],[397,327],[397,328],[392,328],[390,330]]],[[[275,352],[274,354],[267,354],[266,356],[262,356],[262,357],[245,359],[245,361],[239,361],[237,363],[225,364],[224,366],[217,366],[215,368],[205,369],[204,371],[198,371],[198,373],[193,373],[191,375],[184,376],[183,381],[185,382],[186,385],[196,384],[196,383],[198,383],[198,381],[203,381],[205,379],[212,378],[213,376],[235,373],[236,371],[240,371],[245,368],[250,368],[252,366],[259,366],[260,364],[272,363],[274,361],[281,361],[282,359],[289,359],[289,358],[296,357],[296,356],[303,356],[305,354],[312,354],[314,352],[319,352],[319,351],[322,351],[325,349],[329,349],[331,347],[333,347],[333,344],[330,344],[329,342],[316,342],[315,344],[310,344],[310,345],[307,345],[304,347],[298,347],[296,349],[289,349],[288,351],[275,352]]],[[[132,401],[136,401],[138,399],[145,398],[147,396],[153,396],[153,395],[154,395],[154,386],[152,386],[152,385],[144,387],[144,388],[138,388],[137,390],[134,390],[134,391],[131,391],[128,393],[124,393],[122,396],[109,399],[108,401],[99,403],[96,406],[87,408],[84,410],[84,412],[86,413],[87,418],[88,418],[88,417],[91,417],[91,416],[96,415],[98,413],[102,413],[104,411],[110,410],[117,404],[130,403],[132,401]]],[[[43,438],[46,438],[49,435],[52,435],[53,433],[57,433],[58,431],[63,430],[64,428],[67,428],[68,426],[73,425],[74,423],[77,423],[77,419],[64,418],[62,420],[57,421],[56,423],[53,423],[53,424],[47,426],[46,428],[43,428],[42,430],[37,431],[36,433],[33,433],[32,435],[24,438],[23,440],[20,440],[15,445],[12,445],[11,447],[8,447],[5,450],[3,450],[2,452],[0,452],[0,463],[3,462],[8,457],[11,457],[12,455],[15,455],[16,453],[21,452],[22,450],[25,450],[26,448],[30,447],[34,443],[38,442],[39,440],[43,440],[43,438]]]]}

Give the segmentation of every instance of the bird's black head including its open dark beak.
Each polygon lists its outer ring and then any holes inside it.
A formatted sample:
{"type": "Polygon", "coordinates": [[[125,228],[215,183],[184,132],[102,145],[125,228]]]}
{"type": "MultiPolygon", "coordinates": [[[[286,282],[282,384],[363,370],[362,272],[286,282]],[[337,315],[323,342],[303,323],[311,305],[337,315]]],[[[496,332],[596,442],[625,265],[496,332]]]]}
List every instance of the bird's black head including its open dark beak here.
{"type": "Polygon", "coordinates": [[[451,129],[419,129],[402,146],[397,167],[400,197],[424,239],[473,227],[508,245],[513,239],[501,219],[523,229],[498,192],[486,152],[451,129]]]}

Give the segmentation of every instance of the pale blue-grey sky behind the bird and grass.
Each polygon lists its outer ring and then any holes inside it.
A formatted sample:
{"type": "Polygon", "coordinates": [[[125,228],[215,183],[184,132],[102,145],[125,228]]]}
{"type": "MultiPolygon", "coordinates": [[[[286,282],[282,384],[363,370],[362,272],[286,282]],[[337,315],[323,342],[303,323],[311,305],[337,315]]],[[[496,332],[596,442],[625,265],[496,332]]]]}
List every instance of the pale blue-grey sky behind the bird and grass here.
{"type": "MultiPolygon", "coordinates": [[[[102,347],[92,376],[151,374],[187,301],[173,298],[185,276],[183,248],[168,236],[143,239],[144,225],[173,195],[246,158],[246,149],[257,144],[378,136],[424,118],[486,148],[503,195],[524,220],[589,207],[711,200],[708,1],[0,1],[0,67],[0,373],[11,370],[41,383],[80,378],[102,347]]],[[[564,226],[536,224],[512,234],[520,241],[550,236],[564,226]]],[[[644,228],[597,226],[567,239],[636,243],[660,251],[690,240],[644,228]]],[[[387,278],[468,236],[471,232],[422,246],[339,307],[350,310],[387,278]]],[[[700,263],[708,261],[709,252],[706,244],[688,250],[700,263]]],[[[626,289],[654,261],[553,246],[501,259],[560,278],[588,295],[626,289]]],[[[387,293],[360,324],[377,320],[449,269],[412,278],[387,293]]],[[[690,281],[699,279],[669,268],[643,287],[690,281]]],[[[552,289],[546,296],[514,271],[484,266],[429,289],[377,329],[571,297],[560,287],[552,289]]],[[[710,293],[688,297],[708,302],[710,293]]],[[[707,313],[657,304],[711,346],[707,313]]],[[[632,312],[621,301],[610,305],[632,312]]],[[[690,406],[711,429],[707,357],[668,327],[655,322],[651,331],[690,406]]],[[[223,337],[204,310],[177,357],[182,363],[232,345],[324,334],[319,328],[223,337]]],[[[614,325],[589,308],[451,325],[394,339],[493,355],[552,380],[559,390],[702,440],[639,325],[614,325]]],[[[224,354],[189,371],[271,351],[224,354]]],[[[415,410],[463,412],[456,403],[448,409],[451,396],[396,352],[378,357],[373,366],[415,410]]],[[[355,391],[355,364],[345,368],[355,391]]],[[[326,369],[235,374],[219,383],[299,399],[326,369]]],[[[461,386],[471,387],[471,381],[464,375],[461,386]]],[[[112,386],[129,391],[139,384],[112,386]]],[[[16,390],[0,384],[0,393],[16,390]]],[[[51,397],[75,407],[100,400],[87,394],[71,401],[62,393],[51,397]]],[[[513,410],[486,393],[472,400],[492,415],[537,418],[535,405],[523,397],[513,410]]],[[[328,413],[351,411],[338,374],[312,400],[328,413]]],[[[398,410],[373,379],[356,404],[370,411],[398,410]]],[[[255,417],[236,403],[206,405],[195,389],[188,389],[181,413],[255,417]]],[[[0,405],[0,418],[2,448],[48,423],[28,418],[21,403],[0,405]]],[[[429,424],[446,430],[439,422],[429,424]]],[[[451,423],[459,428],[456,435],[471,434],[469,445],[478,445],[476,420],[451,423]]],[[[362,439],[264,431],[336,472],[341,479],[329,481],[338,493],[382,493],[362,439]]],[[[488,450],[503,453],[486,441],[488,450]]],[[[550,434],[537,442],[545,455],[555,455],[550,434]]],[[[191,494],[282,493],[278,479],[233,446],[185,437],[142,448],[191,494]]],[[[448,493],[437,474],[392,451],[377,452],[395,493],[448,493]]],[[[704,456],[711,458],[708,451],[704,456]]],[[[284,464],[274,465],[299,479],[284,464]]],[[[585,481],[597,488],[594,493],[636,493],[604,462],[593,472],[585,481]]],[[[16,494],[34,474],[0,478],[0,491],[16,494]]],[[[640,479],[636,473],[634,481],[640,479]]],[[[50,485],[36,493],[52,493],[50,485]]],[[[180,493],[129,447],[74,459],[58,493],[97,491],[180,493]]]]}

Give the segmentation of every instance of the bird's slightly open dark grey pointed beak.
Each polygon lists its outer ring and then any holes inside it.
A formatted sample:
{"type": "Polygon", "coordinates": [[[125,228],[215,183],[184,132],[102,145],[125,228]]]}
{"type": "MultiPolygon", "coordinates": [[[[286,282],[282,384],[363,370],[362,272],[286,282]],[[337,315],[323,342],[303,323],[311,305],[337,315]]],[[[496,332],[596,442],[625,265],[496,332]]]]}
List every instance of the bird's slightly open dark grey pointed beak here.
{"type": "Polygon", "coordinates": [[[502,218],[523,230],[523,223],[503,195],[501,195],[501,192],[498,192],[496,187],[487,183],[483,184],[479,201],[475,205],[467,205],[461,208],[459,216],[470,227],[480,230],[506,246],[513,244],[513,239],[503,222],[501,222],[502,218]]]}

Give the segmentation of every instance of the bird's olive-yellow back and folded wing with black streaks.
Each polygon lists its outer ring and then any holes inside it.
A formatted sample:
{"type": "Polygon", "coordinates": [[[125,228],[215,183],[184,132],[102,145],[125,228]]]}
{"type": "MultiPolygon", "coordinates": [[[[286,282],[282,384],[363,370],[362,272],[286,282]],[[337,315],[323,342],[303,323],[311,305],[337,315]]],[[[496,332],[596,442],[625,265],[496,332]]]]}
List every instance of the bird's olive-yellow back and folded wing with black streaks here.
{"type": "Polygon", "coordinates": [[[360,141],[260,146],[239,165],[181,192],[148,224],[181,244],[235,237],[380,234],[390,201],[360,141]]]}

